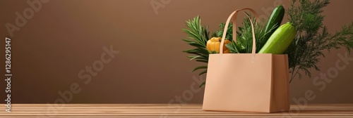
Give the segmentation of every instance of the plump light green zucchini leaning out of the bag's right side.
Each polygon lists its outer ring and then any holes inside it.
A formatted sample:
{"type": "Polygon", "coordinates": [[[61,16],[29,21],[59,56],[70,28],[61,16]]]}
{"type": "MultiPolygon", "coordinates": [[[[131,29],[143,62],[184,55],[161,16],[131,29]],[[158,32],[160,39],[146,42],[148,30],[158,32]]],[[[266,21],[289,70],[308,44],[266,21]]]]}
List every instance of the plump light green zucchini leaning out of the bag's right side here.
{"type": "Polygon", "coordinates": [[[266,44],[263,46],[263,48],[261,48],[260,51],[258,51],[258,53],[285,53],[296,34],[297,29],[292,25],[292,23],[287,22],[286,24],[278,27],[275,32],[273,32],[271,37],[268,39],[268,41],[266,41],[266,44]]]}

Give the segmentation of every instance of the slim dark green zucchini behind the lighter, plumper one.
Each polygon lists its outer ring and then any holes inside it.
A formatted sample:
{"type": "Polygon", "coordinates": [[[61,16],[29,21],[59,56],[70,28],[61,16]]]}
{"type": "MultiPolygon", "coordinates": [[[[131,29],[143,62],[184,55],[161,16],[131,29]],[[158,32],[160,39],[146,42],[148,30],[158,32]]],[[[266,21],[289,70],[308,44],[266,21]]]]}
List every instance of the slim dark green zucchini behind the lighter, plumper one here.
{"type": "Polygon", "coordinates": [[[268,32],[264,35],[265,41],[267,41],[268,38],[270,38],[271,34],[273,34],[273,32],[275,32],[275,30],[280,27],[284,16],[285,8],[283,8],[282,5],[277,6],[275,9],[273,9],[273,12],[271,13],[270,18],[268,18],[268,21],[265,26],[265,32],[268,32]]]}

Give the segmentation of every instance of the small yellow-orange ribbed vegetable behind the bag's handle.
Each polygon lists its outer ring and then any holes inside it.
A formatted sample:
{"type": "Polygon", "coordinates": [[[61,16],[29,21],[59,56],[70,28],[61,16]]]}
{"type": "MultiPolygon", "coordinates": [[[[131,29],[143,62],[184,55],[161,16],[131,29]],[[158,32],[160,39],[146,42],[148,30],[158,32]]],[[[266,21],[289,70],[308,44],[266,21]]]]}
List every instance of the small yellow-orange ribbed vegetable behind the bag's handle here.
{"type": "MultiPolygon", "coordinates": [[[[207,50],[211,53],[212,51],[215,51],[216,53],[220,53],[220,42],[222,41],[221,37],[212,37],[207,41],[206,48],[207,50]]],[[[229,40],[225,40],[225,44],[229,44],[229,40]]],[[[229,49],[223,45],[223,53],[229,53],[229,49]]]]}

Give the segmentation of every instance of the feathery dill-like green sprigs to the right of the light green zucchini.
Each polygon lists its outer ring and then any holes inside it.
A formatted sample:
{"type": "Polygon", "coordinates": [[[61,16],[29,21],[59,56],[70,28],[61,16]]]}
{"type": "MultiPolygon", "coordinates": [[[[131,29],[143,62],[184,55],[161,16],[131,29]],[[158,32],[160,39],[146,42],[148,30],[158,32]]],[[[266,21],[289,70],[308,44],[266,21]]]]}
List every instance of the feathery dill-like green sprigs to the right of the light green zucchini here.
{"type": "Polygon", "coordinates": [[[335,34],[328,33],[323,25],[325,16],[321,13],[328,4],[329,0],[293,0],[287,10],[289,22],[297,27],[297,37],[285,52],[289,56],[289,72],[292,73],[290,81],[297,75],[301,79],[301,72],[311,77],[312,68],[319,71],[316,64],[321,57],[325,58],[323,51],[330,52],[344,46],[350,52],[353,48],[353,22],[335,34]]]}

